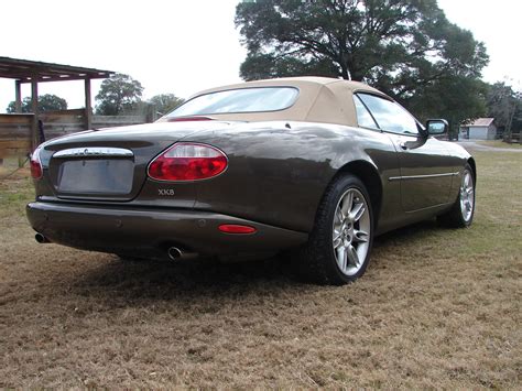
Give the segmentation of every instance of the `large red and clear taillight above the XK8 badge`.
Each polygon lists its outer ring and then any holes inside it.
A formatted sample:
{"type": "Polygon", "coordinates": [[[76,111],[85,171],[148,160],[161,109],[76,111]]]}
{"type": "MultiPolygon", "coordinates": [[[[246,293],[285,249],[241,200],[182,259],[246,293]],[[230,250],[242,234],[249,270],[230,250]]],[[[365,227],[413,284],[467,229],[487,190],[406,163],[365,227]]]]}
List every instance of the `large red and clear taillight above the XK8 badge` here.
{"type": "Polygon", "coordinates": [[[149,176],[156,181],[198,181],[222,173],[228,159],[217,148],[180,142],[149,164],[149,176]]]}

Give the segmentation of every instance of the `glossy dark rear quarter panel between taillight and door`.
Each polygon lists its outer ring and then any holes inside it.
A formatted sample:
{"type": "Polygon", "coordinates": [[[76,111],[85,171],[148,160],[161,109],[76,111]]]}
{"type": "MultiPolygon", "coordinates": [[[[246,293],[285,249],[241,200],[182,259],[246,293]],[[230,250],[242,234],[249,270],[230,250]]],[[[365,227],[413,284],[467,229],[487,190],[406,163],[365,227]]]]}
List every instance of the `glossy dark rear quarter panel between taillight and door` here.
{"type": "Polygon", "coordinates": [[[387,181],[399,173],[395,150],[378,131],[276,121],[198,132],[183,141],[215,145],[229,158],[224,174],[196,183],[198,209],[307,232],[327,185],[354,161],[373,165],[387,187],[383,204],[400,206],[399,187],[387,181]]]}

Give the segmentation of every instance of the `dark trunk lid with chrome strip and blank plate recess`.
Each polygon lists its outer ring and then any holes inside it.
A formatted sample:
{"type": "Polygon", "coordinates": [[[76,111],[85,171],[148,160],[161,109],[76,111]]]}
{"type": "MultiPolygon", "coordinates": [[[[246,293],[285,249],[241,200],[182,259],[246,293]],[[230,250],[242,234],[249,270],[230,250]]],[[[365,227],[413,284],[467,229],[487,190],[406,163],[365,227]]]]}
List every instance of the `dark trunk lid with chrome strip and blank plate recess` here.
{"type": "Polygon", "coordinates": [[[48,142],[48,178],[63,199],[124,202],[133,199],[146,180],[149,163],[166,148],[202,130],[229,122],[150,123],[72,134],[48,142]]]}

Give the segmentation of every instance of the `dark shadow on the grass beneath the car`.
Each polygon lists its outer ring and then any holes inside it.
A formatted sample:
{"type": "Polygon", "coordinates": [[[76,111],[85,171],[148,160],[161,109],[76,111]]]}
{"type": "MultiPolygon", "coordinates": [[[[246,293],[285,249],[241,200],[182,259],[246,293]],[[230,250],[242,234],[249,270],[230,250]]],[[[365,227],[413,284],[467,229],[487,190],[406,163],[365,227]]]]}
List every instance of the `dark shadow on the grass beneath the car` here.
{"type": "MultiPolygon", "coordinates": [[[[387,262],[383,258],[387,247],[422,240],[436,229],[441,228],[429,220],[379,236],[373,243],[379,260],[374,261],[387,262]]],[[[69,281],[68,290],[72,293],[104,297],[105,301],[112,297],[139,303],[144,300],[189,300],[195,296],[224,298],[238,294],[263,295],[270,292],[273,295],[324,289],[301,279],[294,272],[287,254],[229,263],[214,259],[123,261],[116,256],[99,257],[106,257],[107,261],[98,262],[69,281]]]]}

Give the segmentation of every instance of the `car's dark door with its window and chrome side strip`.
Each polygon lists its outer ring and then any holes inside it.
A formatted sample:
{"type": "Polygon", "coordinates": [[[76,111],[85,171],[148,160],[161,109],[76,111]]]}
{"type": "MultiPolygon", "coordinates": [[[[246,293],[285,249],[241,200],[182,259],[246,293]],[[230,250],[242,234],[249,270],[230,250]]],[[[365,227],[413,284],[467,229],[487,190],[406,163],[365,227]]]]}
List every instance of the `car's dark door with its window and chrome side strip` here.
{"type": "Polygon", "coordinates": [[[452,188],[454,166],[444,143],[424,137],[415,118],[393,100],[371,94],[357,94],[379,128],[385,132],[399,154],[401,204],[415,211],[446,204],[452,188]]]}

